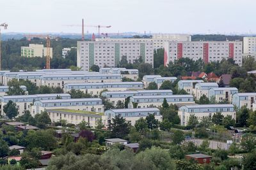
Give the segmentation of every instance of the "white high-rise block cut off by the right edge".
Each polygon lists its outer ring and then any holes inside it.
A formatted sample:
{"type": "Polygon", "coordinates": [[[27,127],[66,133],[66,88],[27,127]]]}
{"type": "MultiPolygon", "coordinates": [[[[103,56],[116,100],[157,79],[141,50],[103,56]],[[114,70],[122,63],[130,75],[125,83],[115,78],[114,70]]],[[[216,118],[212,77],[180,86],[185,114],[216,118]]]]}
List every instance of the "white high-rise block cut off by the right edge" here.
{"type": "Polygon", "coordinates": [[[244,55],[256,56],[256,37],[244,37],[243,46],[244,55]]]}

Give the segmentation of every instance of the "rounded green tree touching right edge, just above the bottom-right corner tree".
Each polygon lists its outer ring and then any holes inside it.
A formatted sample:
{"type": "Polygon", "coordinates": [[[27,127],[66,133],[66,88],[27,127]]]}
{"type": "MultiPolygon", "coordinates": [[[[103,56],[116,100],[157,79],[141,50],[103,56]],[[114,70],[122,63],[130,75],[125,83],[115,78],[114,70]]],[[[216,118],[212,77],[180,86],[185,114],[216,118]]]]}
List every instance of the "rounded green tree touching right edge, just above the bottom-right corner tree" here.
{"type": "Polygon", "coordinates": [[[246,152],[251,152],[256,147],[256,138],[253,134],[247,133],[241,139],[241,148],[246,152]]]}

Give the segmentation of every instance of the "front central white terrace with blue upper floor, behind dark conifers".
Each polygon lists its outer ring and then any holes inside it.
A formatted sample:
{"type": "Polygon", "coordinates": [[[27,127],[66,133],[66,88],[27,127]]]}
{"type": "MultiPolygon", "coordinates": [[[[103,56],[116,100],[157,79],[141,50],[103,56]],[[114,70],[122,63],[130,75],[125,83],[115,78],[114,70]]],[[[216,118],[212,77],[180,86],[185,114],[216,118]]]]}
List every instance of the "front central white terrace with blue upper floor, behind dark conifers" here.
{"type": "Polygon", "coordinates": [[[160,115],[160,110],[157,108],[134,108],[134,109],[116,109],[116,110],[107,110],[104,115],[104,125],[108,126],[112,118],[115,116],[120,116],[125,118],[127,122],[130,122],[132,126],[136,124],[136,121],[140,118],[146,118],[148,115],[154,115],[155,118],[159,121],[163,121],[162,115],[160,115]]]}

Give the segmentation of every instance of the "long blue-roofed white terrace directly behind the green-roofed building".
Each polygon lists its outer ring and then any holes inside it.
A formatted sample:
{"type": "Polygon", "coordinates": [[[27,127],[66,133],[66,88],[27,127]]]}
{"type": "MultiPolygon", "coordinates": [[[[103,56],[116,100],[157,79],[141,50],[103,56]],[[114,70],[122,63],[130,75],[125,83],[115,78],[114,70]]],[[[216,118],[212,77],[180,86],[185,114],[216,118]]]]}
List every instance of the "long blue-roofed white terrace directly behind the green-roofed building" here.
{"type": "Polygon", "coordinates": [[[104,105],[100,98],[81,98],[81,99],[55,99],[35,101],[31,108],[31,115],[41,113],[45,110],[70,109],[82,111],[104,112],[104,105]]]}

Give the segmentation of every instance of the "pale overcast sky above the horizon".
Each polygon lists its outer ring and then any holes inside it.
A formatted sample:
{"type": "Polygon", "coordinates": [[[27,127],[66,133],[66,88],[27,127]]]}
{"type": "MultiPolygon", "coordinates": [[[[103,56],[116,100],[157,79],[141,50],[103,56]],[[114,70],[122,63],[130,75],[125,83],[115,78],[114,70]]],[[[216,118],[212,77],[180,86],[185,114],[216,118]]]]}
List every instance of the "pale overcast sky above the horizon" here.
{"type": "Polygon", "coordinates": [[[0,0],[2,32],[255,34],[255,0],[0,0]],[[85,32],[97,32],[86,27],[85,32]]]}

